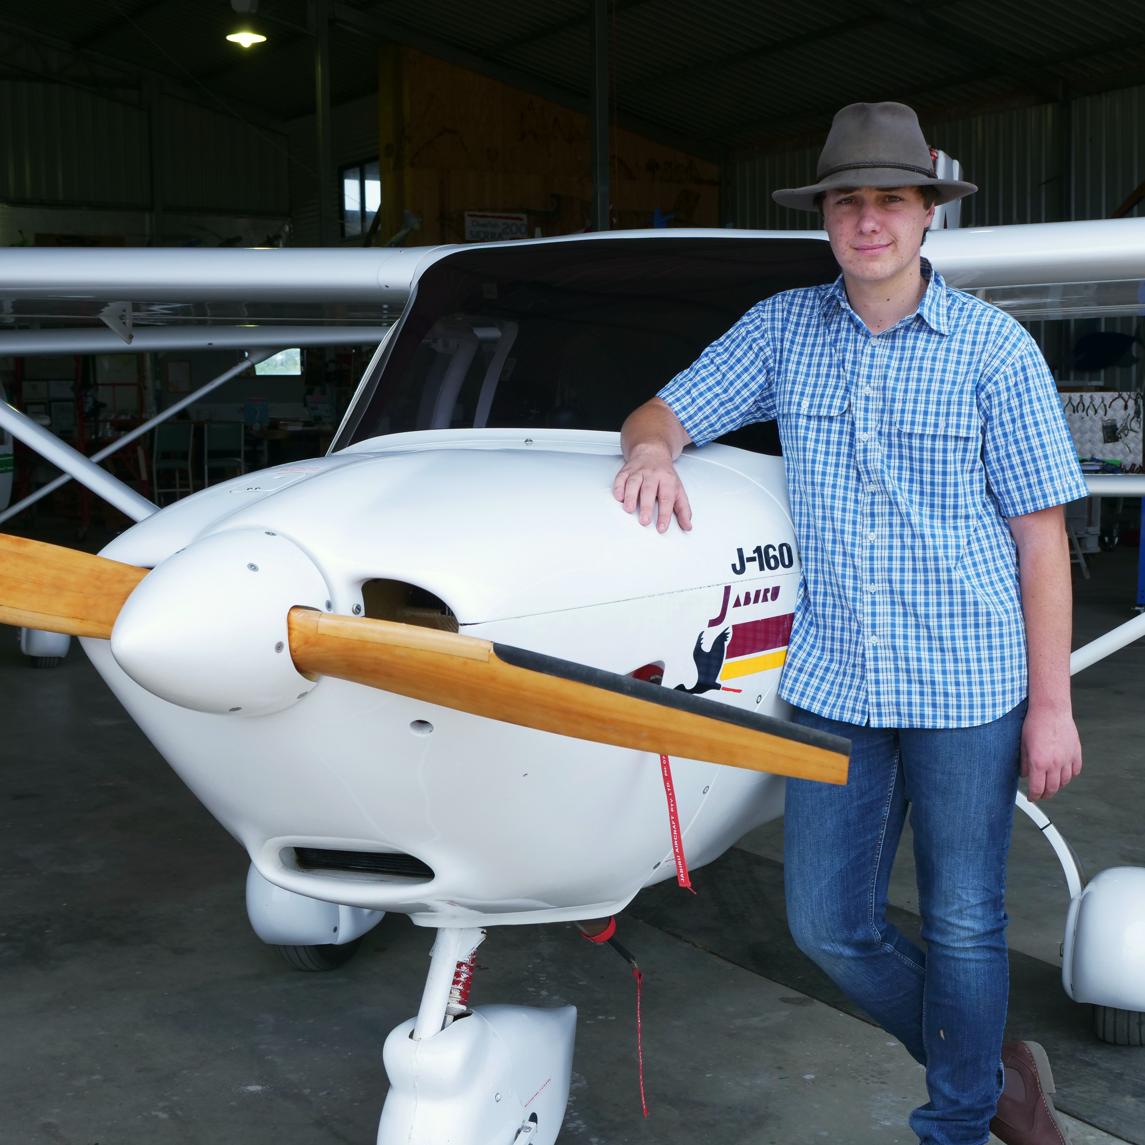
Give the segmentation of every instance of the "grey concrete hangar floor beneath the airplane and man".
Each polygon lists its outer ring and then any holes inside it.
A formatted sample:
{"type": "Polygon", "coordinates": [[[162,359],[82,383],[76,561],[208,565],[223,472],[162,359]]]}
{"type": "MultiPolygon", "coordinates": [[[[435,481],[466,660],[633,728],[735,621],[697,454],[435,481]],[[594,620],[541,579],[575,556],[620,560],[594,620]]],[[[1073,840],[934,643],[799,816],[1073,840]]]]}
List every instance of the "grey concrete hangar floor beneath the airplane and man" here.
{"type": "MultiPolygon", "coordinates": [[[[1080,589],[1085,638],[1132,615],[1130,555],[1099,558],[1080,589]]],[[[1087,771],[1051,814],[1091,871],[1145,862],[1131,785],[1143,657],[1126,649],[1077,680],[1087,771]]],[[[289,970],[246,922],[246,856],[78,648],[33,671],[0,629],[0,1143],[372,1142],[381,1044],[417,1008],[432,933],[390,916],[342,970],[289,970]]],[[[1056,960],[1064,882],[1028,834],[1011,863],[1014,945],[1056,960]]],[[[776,840],[772,828],[742,845],[773,855],[776,840]]],[[[902,866],[894,901],[909,910],[911,893],[902,866]]],[[[914,1140],[922,1071],[883,1030],[634,918],[623,940],[646,972],[647,1121],[621,960],[563,925],[499,927],[480,951],[474,1004],[578,1006],[562,1142],[914,1140]]]]}

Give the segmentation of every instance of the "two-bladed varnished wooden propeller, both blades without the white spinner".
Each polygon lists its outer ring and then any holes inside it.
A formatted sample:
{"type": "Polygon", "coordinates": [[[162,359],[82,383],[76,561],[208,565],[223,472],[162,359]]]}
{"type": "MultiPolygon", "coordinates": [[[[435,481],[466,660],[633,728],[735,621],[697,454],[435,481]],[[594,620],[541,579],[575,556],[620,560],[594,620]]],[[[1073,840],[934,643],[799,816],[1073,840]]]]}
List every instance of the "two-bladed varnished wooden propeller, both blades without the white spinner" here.
{"type": "MultiPolygon", "coordinates": [[[[0,623],[109,639],[147,572],[0,535],[0,623]]],[[[292,608],[287,625],[303,673],[578,740],[846,782],[846,740],[632,677],[453,632],[306,608],[292,608]]]]}

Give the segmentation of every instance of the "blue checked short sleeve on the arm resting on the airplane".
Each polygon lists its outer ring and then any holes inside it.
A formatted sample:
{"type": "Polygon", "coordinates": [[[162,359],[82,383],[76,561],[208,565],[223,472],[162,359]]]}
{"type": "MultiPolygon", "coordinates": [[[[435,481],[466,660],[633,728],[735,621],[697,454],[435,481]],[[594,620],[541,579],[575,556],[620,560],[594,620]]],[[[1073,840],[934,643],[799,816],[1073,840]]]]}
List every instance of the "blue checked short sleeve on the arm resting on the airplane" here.
{"type": "Polygon", "coordinates": [[[769,299],[752,307],[657,395],[697,445],[752,421],[775,417],[775,382],[767,333],[769,299]]]}

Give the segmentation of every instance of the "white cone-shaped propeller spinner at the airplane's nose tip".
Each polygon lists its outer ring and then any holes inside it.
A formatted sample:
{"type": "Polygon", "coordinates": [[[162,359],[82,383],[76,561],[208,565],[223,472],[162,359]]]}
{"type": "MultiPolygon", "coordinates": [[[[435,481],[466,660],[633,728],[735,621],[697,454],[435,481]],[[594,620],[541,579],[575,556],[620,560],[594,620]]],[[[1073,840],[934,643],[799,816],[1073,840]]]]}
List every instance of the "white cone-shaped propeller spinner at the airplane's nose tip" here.
{"type": "Polygon", "coordinates": [[[266,716],[314,682],[294,668],[286,617],[325,610],[330,592],[297,545],[234,529],[167,558],[127,598],[111,654],[141,687],[182,708],[266,716]]]}

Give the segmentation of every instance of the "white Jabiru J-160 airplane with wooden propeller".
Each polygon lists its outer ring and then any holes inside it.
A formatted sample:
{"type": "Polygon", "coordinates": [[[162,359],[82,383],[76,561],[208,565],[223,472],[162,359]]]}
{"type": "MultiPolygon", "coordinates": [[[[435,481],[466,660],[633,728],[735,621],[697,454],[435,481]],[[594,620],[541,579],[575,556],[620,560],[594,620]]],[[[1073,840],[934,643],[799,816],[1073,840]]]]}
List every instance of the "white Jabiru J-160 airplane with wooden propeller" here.
{"type": "MultiPolygon", "coordinates": [[[[1021,314],[1139,276],[1145,221],[943,231],[925,253],[1021,314]]],[[[782,775],[845,780],[846,742],[785,722],[777,697],[799,558],[766,433],[685,452],[690,534],[643,529],[611,497],[624,416],[760,298],[836,273],[818,232],[0,251],[7,297],[93,314],[235,300],[364,322],[404,303],[327,456],[161,511],[0,405],[139,522],[100,558],[0,538],[0,621],[81,638],[246,847],[256,933],[321,969],[386,910],[436,931],[419,1012],[386,1041],[379,1145],[551,1145],[576,1013],[469,1008],[485,929],[603,922],[782,814],[782,775]]],[[[1143,634],[1131,621],[1073,666],[1143,634]]],[[[1084,885],[1019,803],[1071,879],[1067,992],[1145,1011],[1145,870],[1084,885]]]]}

